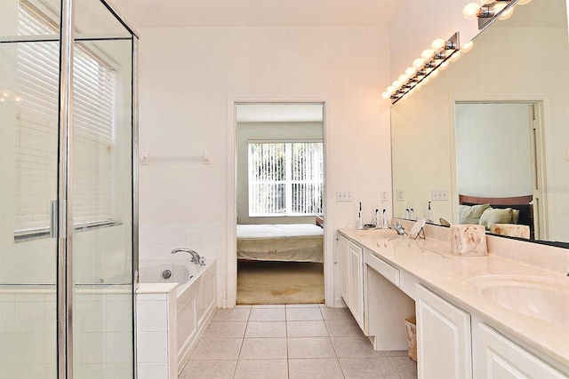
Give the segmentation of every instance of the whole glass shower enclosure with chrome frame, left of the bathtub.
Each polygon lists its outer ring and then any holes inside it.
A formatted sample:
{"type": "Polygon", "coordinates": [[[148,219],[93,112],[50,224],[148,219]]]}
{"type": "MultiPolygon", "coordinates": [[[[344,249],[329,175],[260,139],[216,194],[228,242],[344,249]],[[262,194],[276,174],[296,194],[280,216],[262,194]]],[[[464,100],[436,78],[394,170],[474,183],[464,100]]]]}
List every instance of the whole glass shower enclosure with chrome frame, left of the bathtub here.
{"type": "Polygon", "coordinates": [[[0,377],[135,376],[138,37],[100,0],[0,2],[0,377]]]}

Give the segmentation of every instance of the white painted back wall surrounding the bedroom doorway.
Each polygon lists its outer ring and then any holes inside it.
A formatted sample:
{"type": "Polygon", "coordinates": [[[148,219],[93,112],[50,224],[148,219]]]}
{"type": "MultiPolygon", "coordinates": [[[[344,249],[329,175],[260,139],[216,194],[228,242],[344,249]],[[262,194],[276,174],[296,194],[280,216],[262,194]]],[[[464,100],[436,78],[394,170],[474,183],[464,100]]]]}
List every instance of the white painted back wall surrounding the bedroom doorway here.
{"type": "MultiPolygon", "coordinates": [[[[234,100],[325,101],[328,200],[337,190],[351,190],[371,219],[380,191],[391,188],[389,104],[381,100],[381,83],[389,76],[387,28],[139,31],[140,151],[212,153],[211,165],[140,166],[142,225],[225,223],[234,217],[228,215],[227,198],[235,184],[226,182],[228,154],[233,154],[227,147],[232,139],[228,105],[234,100]]],[[[326,204],[329,263],[333,231],[355,225],[356,212],[357,202],[326,204]]],[[[228,244],[233,243],[227,233],[221,236],[218,284],[227,274],[228,244]]],[[[226,296],[220,294],[218,304],[226,296]]]]}

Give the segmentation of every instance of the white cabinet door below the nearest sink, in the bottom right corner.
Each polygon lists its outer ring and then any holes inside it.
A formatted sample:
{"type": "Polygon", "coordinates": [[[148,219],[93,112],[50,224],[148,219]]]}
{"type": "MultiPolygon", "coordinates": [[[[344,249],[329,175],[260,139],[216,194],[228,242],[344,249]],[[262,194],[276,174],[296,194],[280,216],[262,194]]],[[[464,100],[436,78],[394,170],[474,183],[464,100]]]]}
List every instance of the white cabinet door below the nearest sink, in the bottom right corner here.
{"type": "Polygon", "coordinates": [[[555,368],[489,328],[478,324],[476,375],[488,379],[566,378],[555,368]]]}

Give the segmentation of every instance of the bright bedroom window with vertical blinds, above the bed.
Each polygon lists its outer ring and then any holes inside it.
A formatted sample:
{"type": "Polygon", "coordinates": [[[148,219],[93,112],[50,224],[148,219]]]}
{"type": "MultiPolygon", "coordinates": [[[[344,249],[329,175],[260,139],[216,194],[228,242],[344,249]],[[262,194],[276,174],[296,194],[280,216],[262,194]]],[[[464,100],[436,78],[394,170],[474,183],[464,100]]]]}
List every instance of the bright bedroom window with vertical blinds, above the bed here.
{"type": "Polygon", "coordinates": [[[322,142],[249,143],[249,216],[321,214],[322,142]]]}

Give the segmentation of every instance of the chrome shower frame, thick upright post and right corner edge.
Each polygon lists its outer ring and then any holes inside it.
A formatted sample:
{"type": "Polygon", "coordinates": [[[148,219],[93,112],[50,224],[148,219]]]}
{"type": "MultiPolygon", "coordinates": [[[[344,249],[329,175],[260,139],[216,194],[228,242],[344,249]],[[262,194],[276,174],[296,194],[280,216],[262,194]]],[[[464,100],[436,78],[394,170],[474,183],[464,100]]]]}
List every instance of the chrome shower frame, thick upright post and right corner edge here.
{"type": "MultiPolygon", "coordinates": [[[[59,93],[59,149],[58,149],[58,200],[57,200],[57,367],[58,377],[72,379],[73,362],[73,186],[72,148],[73,135],[73,51],[75,39],[75,0],[61,0],[60,18],[60,93],[59,93]]],[[[132,41],[131,73],[131,130],[132,130],[132,297],[138,284],[138,34],[124,18],[105,0],[100,0],[116,20],[130,33],[132,41]]],[[[53,228],[53,225],[52,225],[53,228]]],[[[132,373],[136,370],[136,303],[132,301],[132,373]]]]}

